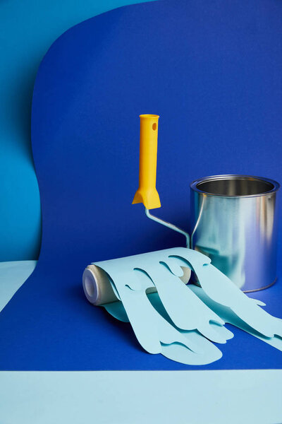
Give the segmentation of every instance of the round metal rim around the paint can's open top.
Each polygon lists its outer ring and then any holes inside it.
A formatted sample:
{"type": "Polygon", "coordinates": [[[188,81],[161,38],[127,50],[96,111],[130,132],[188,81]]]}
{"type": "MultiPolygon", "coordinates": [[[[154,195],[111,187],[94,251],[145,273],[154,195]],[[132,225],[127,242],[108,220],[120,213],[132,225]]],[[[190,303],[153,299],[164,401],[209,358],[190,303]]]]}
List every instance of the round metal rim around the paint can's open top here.
{"type": "Polygon", "coordinates": [[[242,174],[223,174],[223,175],[211,175],[209,177],[202,177],[195,179],[190,184],[190,189],[192,189],[194,192],[206,194],[207,196],[217,196],[217,197],[261,197],[266,196],[266,194],[275,193],[280,189],[280,184],[275,180],[271,178],[266,177],[257,177],[255,175],[242,175],[242,174]],[[202,182],[207,181],[213,181],[213,180],[219,180],[219,179],[259,179],[262,182],[269,183],[273,186],[271,190],[268,190],[267,192],[257,193],[257,194],[216,194],[216,193],[210,193],[205,192],[204,190],[201,190],[199,187],[197,187],[198,184],[202,182]]]}

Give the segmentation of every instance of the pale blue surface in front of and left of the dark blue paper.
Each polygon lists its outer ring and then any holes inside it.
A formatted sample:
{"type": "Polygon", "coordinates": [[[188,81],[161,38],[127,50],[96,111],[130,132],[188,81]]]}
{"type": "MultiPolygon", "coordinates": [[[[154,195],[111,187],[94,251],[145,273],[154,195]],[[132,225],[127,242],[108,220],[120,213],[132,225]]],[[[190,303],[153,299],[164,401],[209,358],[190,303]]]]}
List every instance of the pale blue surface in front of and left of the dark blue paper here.
{"type": "MultiPolygon", "coordinates": [[[[0,310],[35,264],[0,263],[0,310]]],[[[0,372],[4,424],[278,424],[281,399],[282,370],[0,372]]]]}

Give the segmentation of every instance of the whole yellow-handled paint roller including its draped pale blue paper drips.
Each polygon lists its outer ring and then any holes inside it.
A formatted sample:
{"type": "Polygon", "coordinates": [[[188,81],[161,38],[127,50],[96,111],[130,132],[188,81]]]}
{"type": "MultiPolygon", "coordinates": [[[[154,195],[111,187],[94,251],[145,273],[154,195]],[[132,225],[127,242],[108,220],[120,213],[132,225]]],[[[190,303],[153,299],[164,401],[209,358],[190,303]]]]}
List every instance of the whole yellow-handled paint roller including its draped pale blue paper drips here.
{"type": "Polygon", "coordinates": [[[282,351],[282,320],[262,310],[261,302],[247,298],[209,257],[190,249],[187,232],[149,212],[161,206],[156,189],[158,119],[157,115],[140,115],[139,187],[133,204],[144,204],[148,218],[183,234],[187,248],[87,266],[82,276],[87,300],[104,305],[117,319],[129,321],[146,351],[180,363],[203,365],[221,358],[221,351],[211,342],[226,343],[233,336],[225,322],[252,335],[261,334],[263,341],[282,351]],[[199,288],[187,285],[191,270],[199,288]],[[150,293],[152,296],[147,296],[150,293]]]}

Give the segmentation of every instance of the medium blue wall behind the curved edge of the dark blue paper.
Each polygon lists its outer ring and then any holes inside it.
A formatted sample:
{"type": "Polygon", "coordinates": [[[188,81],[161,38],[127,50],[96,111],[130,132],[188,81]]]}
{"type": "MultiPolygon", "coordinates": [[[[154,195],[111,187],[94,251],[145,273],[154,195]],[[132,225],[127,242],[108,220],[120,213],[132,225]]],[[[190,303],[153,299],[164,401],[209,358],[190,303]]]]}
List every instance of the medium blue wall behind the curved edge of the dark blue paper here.
{"type": "Polygon", "coordinates": [[[37,259],[39,253],[40,201],[30,148],[30,107],[42,57],[76,23],[141,2],[0,1],[0,261],[37,259]]]}

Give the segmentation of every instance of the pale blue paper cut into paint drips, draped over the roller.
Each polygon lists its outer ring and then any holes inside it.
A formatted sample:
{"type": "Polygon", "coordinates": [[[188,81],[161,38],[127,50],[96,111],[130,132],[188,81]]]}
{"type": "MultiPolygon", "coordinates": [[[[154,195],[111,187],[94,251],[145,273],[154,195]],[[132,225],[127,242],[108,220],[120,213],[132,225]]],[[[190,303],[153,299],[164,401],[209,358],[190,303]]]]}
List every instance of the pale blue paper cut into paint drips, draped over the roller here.
{"type": "MultiPolygon", "coordinates": [[[[282,351],[282,320],[265,312],[262,302],[248,298],[210,262],[200,252],[175,247],[94,265],[104,270],[119,300],[103,306],[116,319],[130,322],[149,353],[188,365],[212,363],[222,356],[212,342],[233,337],[226,323],[282,351]],[[201,287],[180,280],[188,267],[201,287]],[[157,292],[148,293],[152,288],[157,292]]],[[[85,282],[84,289],[87,294],[85,282]]]]}

